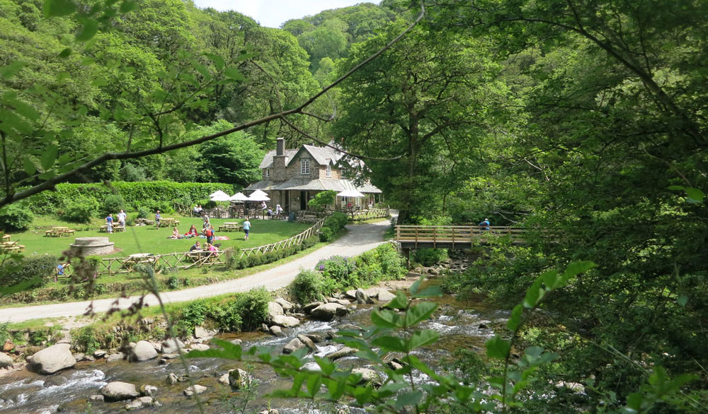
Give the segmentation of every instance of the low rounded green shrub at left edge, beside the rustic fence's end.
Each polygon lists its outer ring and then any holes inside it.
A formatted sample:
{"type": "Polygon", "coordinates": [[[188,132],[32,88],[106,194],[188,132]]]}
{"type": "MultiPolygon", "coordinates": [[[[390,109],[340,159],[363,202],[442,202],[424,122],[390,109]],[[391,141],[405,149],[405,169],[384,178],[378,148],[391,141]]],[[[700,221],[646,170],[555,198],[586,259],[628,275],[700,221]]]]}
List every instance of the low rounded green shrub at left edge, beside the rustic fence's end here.
{"type": "Polygon", "coordinates": [[[57,264],[59,259],[49,255],[7,259],[0,265],[0,286],[27,283],[26,288],[40,287],[52,278],[57,264]]]}

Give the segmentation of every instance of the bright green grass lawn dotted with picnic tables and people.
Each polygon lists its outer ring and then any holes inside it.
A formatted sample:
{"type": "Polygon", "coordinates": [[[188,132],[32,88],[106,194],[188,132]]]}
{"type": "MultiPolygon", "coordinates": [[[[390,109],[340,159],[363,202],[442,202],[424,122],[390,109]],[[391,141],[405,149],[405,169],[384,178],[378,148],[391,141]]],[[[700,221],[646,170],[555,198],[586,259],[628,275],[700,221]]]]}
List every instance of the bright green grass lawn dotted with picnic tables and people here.
{"type": "MultiPolygon", "coordinates": [[[[165,215],[166,217],[168,215],[165,215]]],[[[178,230],[184,234],[189,230],[190,225],[195,225],[198,231],[202,230],[201,218],[181,217],[176,214],[169,217],[180,220],[178,230]]],[[[289,223],[287,220],[251,220],[251,235],[248,240],[244,240],[244,232],[219,232],[219,225],[224,222],[243,223],[244,219],[234,218],[212,218],[211,223],[214,225],[215,234],[217,236],[227,236],[229,240],[216,240],[215,243],[221,243],[221,249],[234,247],[243,249],[249,247],[257,247],[263,244],[278,242],[282,239],[287,239],[297,235],[312,226],[312,223],[289,223]]],[[[93,237],[103,236],[108,237],[111,242],[115,243],[117,252],[105,255],[105,257],[122,257],[135,253],[152,253],[166,254],[174,252],[186,252],[195,240],[204,243],[206,239],[191,238],[191,239],[169,239],[172,235],[172,227],[160,227],[156,229],[154,226],[128,226],[125,232],[108,234],[98,232],[98,227],[103,225],[103,221],[95,220],[89,226],[91,230],[77,230],[73,237],[46,237],[45,231],[52,226],[67,226],[74,229],[86,228],[86,225],[72,225],[72,223],[62,222],[55,218],[40,217],[33,222],[32,230],[25,232],[11,233],[11,239],[19,244],[25,245],[25,255],[31,254],[52,254],[59,256],[69,248],[69,244],[74,242],[74,237],[93,237]]]]}

